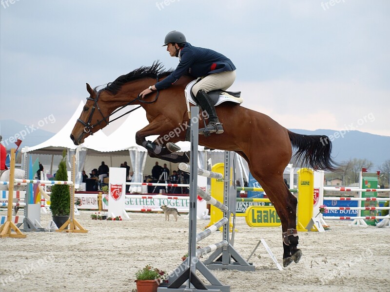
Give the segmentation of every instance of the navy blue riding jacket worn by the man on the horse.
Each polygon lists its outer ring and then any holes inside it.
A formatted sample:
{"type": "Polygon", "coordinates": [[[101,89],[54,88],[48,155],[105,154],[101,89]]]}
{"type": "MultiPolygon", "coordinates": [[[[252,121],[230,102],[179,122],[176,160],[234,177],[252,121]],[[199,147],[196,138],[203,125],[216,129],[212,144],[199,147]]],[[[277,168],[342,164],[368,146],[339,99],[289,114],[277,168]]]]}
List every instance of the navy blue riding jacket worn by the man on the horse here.
{"type": "Polygon", "coordinates": [[[155,87],[158,90],[165,89],[174,84],[184,73],[197,78],[235,69],[228,57],[210,49],[194,47],[187,42],[180,51],[180,62],[175,71],[157,82],[155,87]]]}

